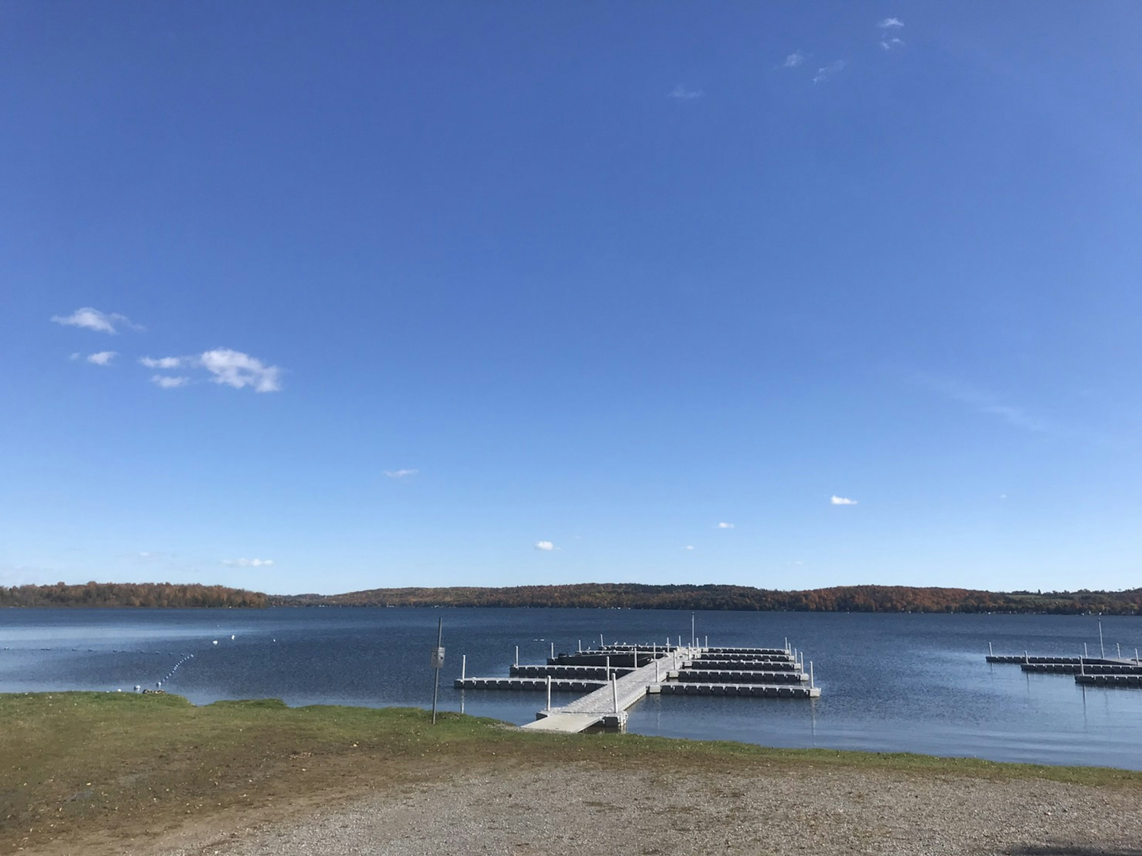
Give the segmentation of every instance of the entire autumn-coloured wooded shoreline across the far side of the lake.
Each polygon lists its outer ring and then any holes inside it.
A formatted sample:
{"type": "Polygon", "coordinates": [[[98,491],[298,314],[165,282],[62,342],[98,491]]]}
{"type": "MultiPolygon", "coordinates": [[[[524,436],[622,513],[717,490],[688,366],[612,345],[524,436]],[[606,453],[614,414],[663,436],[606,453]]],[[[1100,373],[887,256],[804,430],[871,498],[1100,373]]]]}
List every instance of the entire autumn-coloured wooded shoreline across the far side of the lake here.
{"type": "Polygon", "coordinates": [[[579,583],[510,588],[370,589],[345,595],[264,595],[223,586],[97,583],[0,587],[0,606],[266,607],[494,606],[786,612],[1107,613],[1142,615],[1142,589],[974,591],[908,586],[837,586],[805,591],[748,586],[579,583]]]}

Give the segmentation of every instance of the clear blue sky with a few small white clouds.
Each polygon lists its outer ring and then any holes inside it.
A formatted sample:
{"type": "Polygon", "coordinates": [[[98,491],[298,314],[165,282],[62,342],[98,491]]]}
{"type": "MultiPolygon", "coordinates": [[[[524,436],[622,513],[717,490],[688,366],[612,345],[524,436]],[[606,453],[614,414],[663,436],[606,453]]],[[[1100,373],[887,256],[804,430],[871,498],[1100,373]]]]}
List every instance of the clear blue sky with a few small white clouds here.
{"type": "Polygon", "coordinates": [[[0,584],[1136,587],[1140,26],[5,3],[0,584]]]}

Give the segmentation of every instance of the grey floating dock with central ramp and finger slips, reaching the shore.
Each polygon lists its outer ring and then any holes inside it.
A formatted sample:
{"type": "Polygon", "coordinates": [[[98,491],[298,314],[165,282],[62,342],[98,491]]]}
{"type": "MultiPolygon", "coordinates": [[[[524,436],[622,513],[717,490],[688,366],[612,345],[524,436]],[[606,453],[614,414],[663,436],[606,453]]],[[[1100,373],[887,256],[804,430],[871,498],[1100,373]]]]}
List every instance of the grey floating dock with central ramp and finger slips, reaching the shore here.
{"type": "Polygon", "coordinates": [[[456,680],[458,689],[547,691],[547,706],[525,728],[582,732],[626,728],[627,711],[649,694],[815,698],[813,664],[791,648],[718,648],[697,645],[603,645],[555,654],[547,663],[512,667],[507,678],[456,680]],[[586,693],[552,705],[552,693],[586,693]]]}

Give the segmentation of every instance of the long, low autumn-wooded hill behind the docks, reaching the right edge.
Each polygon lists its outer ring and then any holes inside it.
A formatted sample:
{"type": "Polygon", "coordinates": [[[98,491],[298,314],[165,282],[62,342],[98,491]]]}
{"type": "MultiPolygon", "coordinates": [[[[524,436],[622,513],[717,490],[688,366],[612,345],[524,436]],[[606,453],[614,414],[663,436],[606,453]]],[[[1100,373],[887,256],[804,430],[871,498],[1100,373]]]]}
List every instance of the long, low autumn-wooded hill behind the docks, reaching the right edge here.
{"type": "Polygon", "coordinates": [[[797,612],[1021,612],[1142,614],[1142,589],[996,592],[907,586],[838,586],[777,591],[747,586],[581,583],[512,588],[371,589],[268,598],[271,606],[530,606],[797,612]]]}

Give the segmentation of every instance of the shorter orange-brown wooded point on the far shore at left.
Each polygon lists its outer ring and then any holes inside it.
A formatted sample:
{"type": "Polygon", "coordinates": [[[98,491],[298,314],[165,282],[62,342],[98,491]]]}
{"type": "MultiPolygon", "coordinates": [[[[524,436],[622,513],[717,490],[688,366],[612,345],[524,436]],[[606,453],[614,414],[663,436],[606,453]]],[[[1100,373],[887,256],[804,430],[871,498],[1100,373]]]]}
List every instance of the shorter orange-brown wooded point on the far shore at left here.
{"type": "Polygon", "coordinates": [[[85,586],[0,586],[0,606],[254,606],[267,605],[257,591],[198,583],[89,582],[85,586]]]}

